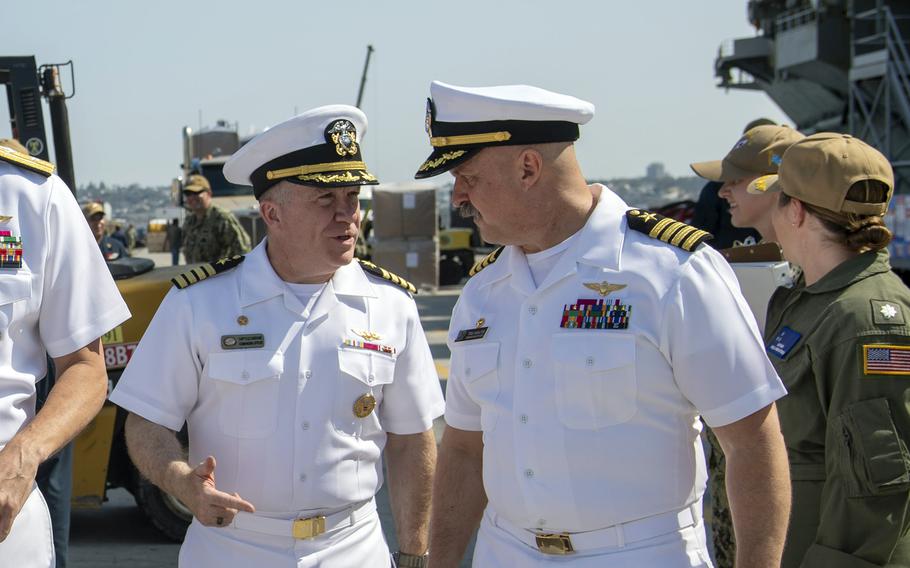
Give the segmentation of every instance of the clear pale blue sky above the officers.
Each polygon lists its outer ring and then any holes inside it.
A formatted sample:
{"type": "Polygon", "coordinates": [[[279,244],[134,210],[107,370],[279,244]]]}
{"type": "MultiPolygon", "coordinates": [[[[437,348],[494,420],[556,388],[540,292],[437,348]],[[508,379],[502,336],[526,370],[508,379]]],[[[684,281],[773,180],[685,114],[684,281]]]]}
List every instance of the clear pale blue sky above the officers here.
{"type": "MultiPolygon", "coordinates": [[[[724,40],[754,35],[746,0],[45,0],[6,2],[2,55],[72,59],[77,183],[167,185],[180,131],[216,119],[241,134],[309,108],[353,104],[375,48],[364,157],[382,181],[429,154],[429,83],[527,83],[593,102],[578,155],[589,178],[651,162],[690,175],[751,119],[787,122],[761,92],[718,89],[724,40]]],[[[2,92],[2,91],[0,91],[2,92]]],[[[0,137],[9,135],[0,104],[0,137]]],[[[49,124],[49,123],[48,123],[49,124]]]]}

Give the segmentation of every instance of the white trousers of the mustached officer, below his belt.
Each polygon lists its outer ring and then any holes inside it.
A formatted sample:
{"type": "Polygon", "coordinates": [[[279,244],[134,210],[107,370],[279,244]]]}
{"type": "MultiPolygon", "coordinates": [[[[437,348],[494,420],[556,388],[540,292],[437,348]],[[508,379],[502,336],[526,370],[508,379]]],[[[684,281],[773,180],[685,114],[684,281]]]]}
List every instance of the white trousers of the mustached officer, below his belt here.
{"type": "Polygon", "coordinates": [[[712,568],[705,526],[698,524],[625,546],[605,546],[570,555],[543,554],[496,525],[489,508],[484,513],[474,547],[473,568],[712,568]]]}

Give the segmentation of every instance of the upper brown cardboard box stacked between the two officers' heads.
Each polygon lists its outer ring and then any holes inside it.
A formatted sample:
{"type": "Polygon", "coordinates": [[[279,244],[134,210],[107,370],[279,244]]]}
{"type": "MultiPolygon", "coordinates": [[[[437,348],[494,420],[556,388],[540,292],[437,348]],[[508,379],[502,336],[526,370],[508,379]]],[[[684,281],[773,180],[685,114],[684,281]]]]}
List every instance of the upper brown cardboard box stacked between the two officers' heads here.
{"type": "Polygon", "coordinates": [[[436,236],[436,186],[431,183],[375,186],[372,207],[373,236],[377,239],[436,236]]]}

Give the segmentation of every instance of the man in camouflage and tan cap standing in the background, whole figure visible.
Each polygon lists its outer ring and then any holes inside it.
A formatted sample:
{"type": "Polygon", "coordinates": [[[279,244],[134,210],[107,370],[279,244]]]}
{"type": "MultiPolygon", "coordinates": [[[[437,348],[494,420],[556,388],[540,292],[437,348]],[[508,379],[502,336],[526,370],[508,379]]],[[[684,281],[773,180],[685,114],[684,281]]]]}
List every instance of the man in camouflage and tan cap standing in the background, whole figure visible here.
{"type": "Polygon", "coordinates": [[[233,213],[212,205],[212,187],[204,176],[189,177],[183,198],[192,213],[183,223],[187,263],[213,262],[250,252],[250,237],[233,213]]]}

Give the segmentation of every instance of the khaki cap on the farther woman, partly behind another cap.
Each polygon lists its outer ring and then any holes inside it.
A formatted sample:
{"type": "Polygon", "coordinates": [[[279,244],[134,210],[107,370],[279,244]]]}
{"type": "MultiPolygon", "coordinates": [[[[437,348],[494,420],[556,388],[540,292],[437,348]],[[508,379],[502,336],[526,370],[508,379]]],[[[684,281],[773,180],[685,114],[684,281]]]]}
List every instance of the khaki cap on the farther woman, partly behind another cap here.
{"type": "Polygon", "coordinates": [[[789,126],[756,126],[746,131],[723,160],[690,164],[692,171],[711,181],[735,181],[777,173],[784,152],[805,138],[789,126]]]}

